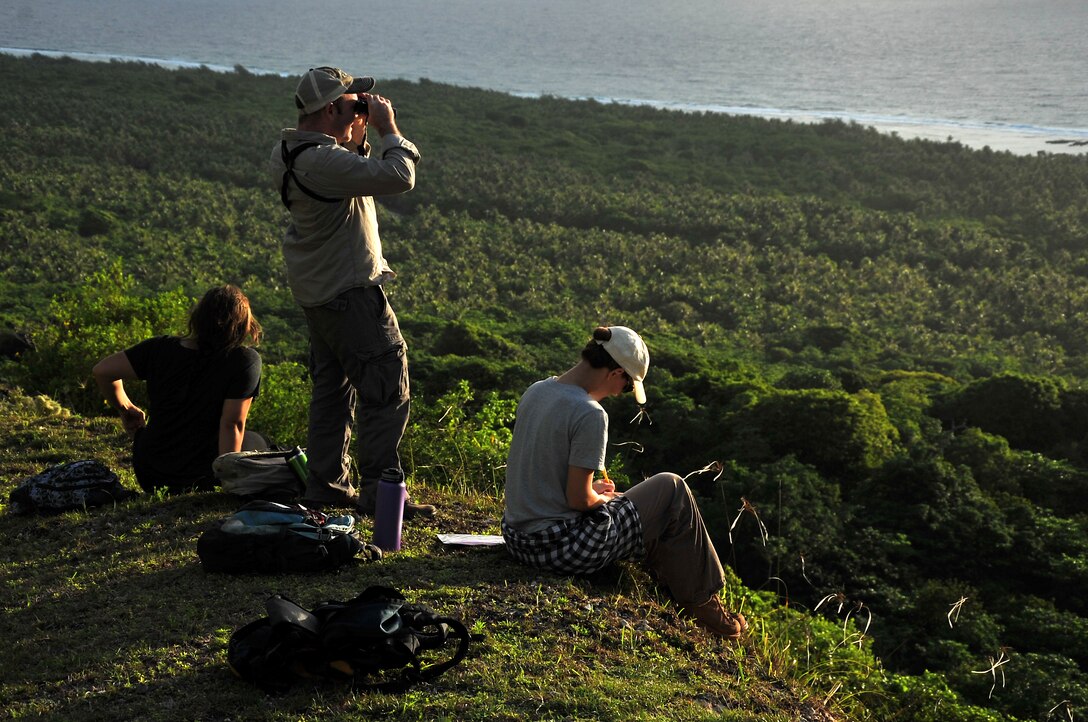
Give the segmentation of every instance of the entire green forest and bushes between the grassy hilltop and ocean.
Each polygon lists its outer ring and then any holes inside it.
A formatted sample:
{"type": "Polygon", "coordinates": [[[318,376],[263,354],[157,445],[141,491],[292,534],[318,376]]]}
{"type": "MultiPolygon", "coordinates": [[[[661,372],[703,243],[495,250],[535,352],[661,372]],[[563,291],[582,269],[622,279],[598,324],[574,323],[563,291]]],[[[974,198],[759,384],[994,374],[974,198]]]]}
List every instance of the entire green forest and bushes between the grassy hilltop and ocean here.
{"type": "MultiPolygon", "coordinates": [[[[264,167],[295,80],[0,57],[0,322],[38,346],[5,377],[101,412],[98,354],[237,283],[267,331],[255,422],[305,438],[264,167]]],[[[721,462],[690,481],[745,583],[869,615],[886,664],[997,715],[955,719],[1088,709],[1088,159],[380,90],[423,154],[381,199],[416,419],[459,444],[410,437],[418,477],[471,449],[497,491],[512,400],[593,325],[630,325],[648,420],[609,408],[610,472],[721,462]]]]}

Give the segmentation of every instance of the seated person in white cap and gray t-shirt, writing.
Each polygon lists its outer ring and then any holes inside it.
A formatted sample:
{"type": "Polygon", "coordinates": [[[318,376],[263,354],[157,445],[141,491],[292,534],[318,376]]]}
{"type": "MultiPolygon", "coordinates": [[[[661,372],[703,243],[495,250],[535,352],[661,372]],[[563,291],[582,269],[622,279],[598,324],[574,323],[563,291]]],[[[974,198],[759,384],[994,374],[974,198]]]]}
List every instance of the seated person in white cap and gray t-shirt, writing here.
{"type": "Polygon", "coordinates": [[[608,445],[601,401],[632,391],[645,403],[648,370],[650,352],[636,333],[601,326],[574,366],[524,393],[506,464],[506,548],[522,563],[560,574],[641,559],[687,614],[738,639],[747,622],[721,605],[721,562],[684,481],[662,473],[623,493],[607,473],[594,481],[608,445]]]}

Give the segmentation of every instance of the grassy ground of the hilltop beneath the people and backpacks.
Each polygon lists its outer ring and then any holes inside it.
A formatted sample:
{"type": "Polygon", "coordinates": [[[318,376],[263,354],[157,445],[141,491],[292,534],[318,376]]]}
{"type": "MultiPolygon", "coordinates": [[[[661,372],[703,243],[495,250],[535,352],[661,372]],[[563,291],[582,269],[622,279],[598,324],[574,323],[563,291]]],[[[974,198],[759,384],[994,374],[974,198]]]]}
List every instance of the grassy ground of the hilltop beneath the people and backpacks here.
{"type": "MultiPolygon", "coordinates": [[[[0,397],[4,499],[25,475],[76,458],[98,458],[135,487],[115,420],[76,416],[16,389],[0,397]]],[[[572,580],[521,567],[502,548],[443,548],[440,531],[497,532],[500,502],[413,494],[441,512],[407,526],[401,552],[325,575],[207,574],[196,540],[237,506],[225,495],[145,495],[57,516],[5,509],[0,709],[55,720],[837,719],[817,689],[826,675],[805,687],[804,652],[771,642],[771,620],[795,622],[795,613],[731,581],[731,603],[759,605],[766,619],[753,615],[752,637],[728,645],[680,618],[633,565],[572,580]],[[312,606],[371,584],[462,619],[478,636],[468,659],[404,696],[301,682],[272,697],[231,673],[231,633],[262,615],[268,596],[312,606]]],[[[360,524],[369,537],[370,521],[360,524]]]]}

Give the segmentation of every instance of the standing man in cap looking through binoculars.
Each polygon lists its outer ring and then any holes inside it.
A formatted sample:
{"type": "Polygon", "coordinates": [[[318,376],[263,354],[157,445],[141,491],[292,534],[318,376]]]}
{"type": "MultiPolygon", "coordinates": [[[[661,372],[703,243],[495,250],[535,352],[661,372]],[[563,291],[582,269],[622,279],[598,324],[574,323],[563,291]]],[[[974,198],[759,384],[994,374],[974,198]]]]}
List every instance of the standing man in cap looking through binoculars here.
{"type": "MultiPolygon", "coordinates": [[[[298,82],[298,126],[282,132],[270,172],[290,213],[283,240],[287,285],[310,338],[310,475],[302,502],[374,512],[383,471],[400,472],[408,424],[407,346],[382,286],[396,277],[382,253],[374,196],[416,185],[419,150],[400,135],[374,78],[313,67],[298,82]],[[367,126],[381,138],[371,154],[367,126]],[[358,409],[356,401],[359,400],[358,409]],[[357,436],[358,490],[348,447],[357,436]]],[[[403,472],[400,472],[403,474],[403,472]]],[[[406,519],[434,515],[406,502],[406,519]]]]}

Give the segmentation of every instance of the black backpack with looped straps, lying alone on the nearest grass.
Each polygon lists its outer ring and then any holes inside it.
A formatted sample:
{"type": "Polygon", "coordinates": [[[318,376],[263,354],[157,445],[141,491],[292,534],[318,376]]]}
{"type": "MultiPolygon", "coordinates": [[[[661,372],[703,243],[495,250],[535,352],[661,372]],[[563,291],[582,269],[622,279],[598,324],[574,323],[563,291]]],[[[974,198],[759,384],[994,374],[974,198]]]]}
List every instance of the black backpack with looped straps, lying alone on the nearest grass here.
{"type": "Polygon", "coordinates": [[[468,653],[465,624],[409,605],[390,587],[368,587],[350,601],[326,601],[312,611],[280,595],[269,597],[264,607],[268,617],[231,635],[226,659],[235,674],[270,693],[286,692],[307,677],[403,693],[437,677],[468,653]],[[454,642],[448,659],[422,659],[454,642]]]}

